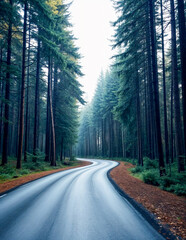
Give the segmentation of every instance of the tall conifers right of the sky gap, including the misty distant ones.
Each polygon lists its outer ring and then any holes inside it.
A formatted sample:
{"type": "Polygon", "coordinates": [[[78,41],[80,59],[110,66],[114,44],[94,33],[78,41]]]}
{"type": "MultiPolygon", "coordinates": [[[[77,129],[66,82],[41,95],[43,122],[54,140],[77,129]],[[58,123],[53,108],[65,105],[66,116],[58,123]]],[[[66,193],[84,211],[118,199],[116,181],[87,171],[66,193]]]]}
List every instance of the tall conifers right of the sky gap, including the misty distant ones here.
{"type": "Polygon", "coordinates": [[[82,112],[78,154],[159,159],[160,175],[186,156],[183,0],[116,0],[115,64],[82,112]]]}

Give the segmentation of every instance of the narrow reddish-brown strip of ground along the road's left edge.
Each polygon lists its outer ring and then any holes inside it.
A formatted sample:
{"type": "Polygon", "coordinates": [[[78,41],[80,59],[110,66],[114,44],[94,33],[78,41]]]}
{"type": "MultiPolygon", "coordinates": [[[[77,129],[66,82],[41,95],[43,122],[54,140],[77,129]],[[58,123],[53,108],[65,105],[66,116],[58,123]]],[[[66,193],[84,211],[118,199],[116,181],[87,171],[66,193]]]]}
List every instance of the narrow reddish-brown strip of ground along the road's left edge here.
{"type": "Polygon", "coordinates": [[[90,162],[85,162],[85,161],[77,161],[77,164],[75,166],[66,166],[64,168],[59,168],[59,169],[55,169],[55,170],[49,170],[49,171],[43,171],[43,172],[37,172],[37,173],[32,173],[26,176],[22,176],[16,179],[10,179],[7,180],[3,183],[0,183],[0,194],[2,194],[5,191],[11,190],[15,187],[18,187],[24,183],[33,181],[35,179],[47,176],[49,174],[52,173],[56,173],[56,172],[60,172],[60,171],[64,171],[64,170],[68,170],[68,169],[72,169],[72,168],[77,168],[77,167],[83,167],[83,166],[87,166],[91,164],[90,162]]]}

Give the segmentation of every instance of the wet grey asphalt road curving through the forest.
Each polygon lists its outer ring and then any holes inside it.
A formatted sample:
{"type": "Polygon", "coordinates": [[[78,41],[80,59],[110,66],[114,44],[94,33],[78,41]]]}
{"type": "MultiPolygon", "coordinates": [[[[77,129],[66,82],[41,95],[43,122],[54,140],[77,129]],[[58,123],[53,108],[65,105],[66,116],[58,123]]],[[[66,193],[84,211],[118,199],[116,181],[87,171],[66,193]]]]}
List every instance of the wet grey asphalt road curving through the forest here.
{"type": "Polygon", "coordinates": [[[0,239],[164,239],[108,180],[108,170],[117,163],[92,162],[0,196],[0,239]]]}

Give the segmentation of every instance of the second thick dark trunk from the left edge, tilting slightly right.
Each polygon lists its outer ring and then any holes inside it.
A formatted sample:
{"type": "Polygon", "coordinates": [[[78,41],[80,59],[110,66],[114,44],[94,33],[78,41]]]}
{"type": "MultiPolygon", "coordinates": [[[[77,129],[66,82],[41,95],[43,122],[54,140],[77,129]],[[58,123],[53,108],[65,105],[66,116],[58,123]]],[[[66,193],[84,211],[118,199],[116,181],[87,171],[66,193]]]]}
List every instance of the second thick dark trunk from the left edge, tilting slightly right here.
{"type": "Polygon", "coordinates": [[[23,26],[23,54],[22,54],[22,79],[21,79],[21,109],[19,123],[19,144],[17,156],[17,168],[21,168],[22,148],[23,148],[23,130],[24,130],[24,104],[25,104],[25,59],[26,59],[26,31],[27,31],[27,10],[28,3],[24,6],[24,26],[23,26]]]}

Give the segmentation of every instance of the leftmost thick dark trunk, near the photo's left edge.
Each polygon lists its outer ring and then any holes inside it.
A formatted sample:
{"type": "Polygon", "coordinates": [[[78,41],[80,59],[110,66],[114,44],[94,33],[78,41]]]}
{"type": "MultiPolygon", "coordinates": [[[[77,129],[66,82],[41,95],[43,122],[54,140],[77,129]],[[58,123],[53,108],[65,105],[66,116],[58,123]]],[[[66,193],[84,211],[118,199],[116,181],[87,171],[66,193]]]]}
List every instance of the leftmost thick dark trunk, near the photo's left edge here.
{"type": "MultiPolygon", "coordinates": [[[[12,7],[12,0],[9,1],[12,7]]],[[[2,153],[2,165],[5,165],[8,161],[8,135],[9,135],[9,112],[10,112],[10,67],[11,67],[11,44],[12,44],[12,15],[9,18],[8,27],[8,41],[7,41],[7,71],[6,71],[6,85],[5,85],[5,108],[4,108],[4,131],[3,131],[3,153],[2,153]]]]}

